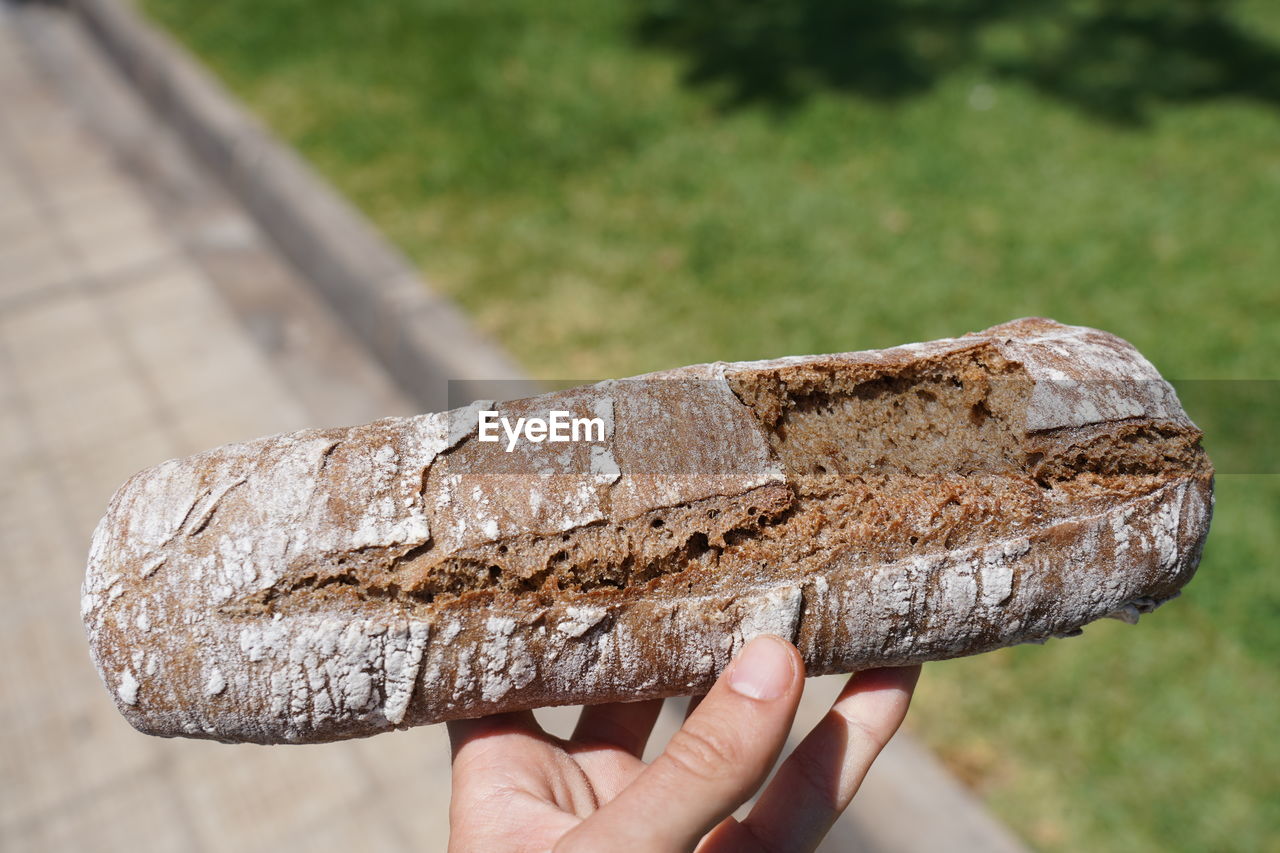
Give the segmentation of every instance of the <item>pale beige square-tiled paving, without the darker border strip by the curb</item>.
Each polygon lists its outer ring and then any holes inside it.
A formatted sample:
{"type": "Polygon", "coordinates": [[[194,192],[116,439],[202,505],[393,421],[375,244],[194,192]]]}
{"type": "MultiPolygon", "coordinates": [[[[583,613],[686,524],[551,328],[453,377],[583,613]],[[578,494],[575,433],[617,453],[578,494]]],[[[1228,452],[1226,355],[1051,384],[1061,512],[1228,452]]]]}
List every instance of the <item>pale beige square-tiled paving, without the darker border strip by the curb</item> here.
{"type": "Polygon", "coordinates": [[[440,727],[317,748],[159,740],[99,683],[78,587],[113,489],[172,456],[333,421],[41,78],[10,15],[0,8],[0,848],[442,849],[440,727]]]}

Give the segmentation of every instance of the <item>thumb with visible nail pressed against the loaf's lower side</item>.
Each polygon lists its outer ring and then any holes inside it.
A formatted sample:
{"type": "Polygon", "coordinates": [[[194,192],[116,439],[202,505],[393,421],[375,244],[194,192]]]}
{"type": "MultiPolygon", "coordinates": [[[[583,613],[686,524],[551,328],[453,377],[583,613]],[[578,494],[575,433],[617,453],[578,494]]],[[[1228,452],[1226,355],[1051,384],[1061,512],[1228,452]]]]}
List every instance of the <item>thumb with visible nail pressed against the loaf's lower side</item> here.
{"type": "Polygon", "coordinates": [[[794,646],[758,637],[667,744],[616,799],[568,833],[557,853],[689,850],[759,788],[804,685],[794,646]]]}

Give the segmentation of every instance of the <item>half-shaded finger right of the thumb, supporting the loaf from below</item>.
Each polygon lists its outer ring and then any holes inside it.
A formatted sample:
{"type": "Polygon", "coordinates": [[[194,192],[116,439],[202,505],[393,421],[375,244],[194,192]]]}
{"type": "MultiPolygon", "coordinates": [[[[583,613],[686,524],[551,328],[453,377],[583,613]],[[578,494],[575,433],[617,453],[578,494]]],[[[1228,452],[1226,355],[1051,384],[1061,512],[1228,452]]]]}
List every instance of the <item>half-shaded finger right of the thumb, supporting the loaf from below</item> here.
{"type": "Polygon", "coordinates": [[[800,742],[742,826],[767,850],[812,850],[845,811],[876,756],[897,731],[919,666],[850,678],[827,716],[800,742]]]}

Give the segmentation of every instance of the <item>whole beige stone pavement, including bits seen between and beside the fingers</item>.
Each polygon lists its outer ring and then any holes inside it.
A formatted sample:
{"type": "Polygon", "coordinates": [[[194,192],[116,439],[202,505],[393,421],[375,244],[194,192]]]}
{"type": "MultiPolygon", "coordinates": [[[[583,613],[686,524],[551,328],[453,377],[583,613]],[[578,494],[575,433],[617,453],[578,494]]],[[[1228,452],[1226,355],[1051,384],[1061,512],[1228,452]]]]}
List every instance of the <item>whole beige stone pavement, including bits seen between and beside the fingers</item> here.
{"type": "MultiPolygon", "coordinates": [[[[0,0],[0,849],[444,849],[443,726],[146,738],[78,612],[90,533],[136,470],[413,409],[73,19],[0,0]]],[[[810,683],[797,731],[838,686],[810,683]]],[[[650,756],[681,716],[667,703],[650,756]]],[[[823,849],[1016,849],[928,753],[891,751],[823,849]]]]}

